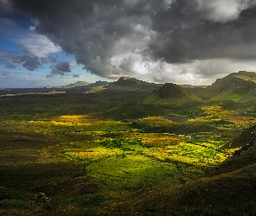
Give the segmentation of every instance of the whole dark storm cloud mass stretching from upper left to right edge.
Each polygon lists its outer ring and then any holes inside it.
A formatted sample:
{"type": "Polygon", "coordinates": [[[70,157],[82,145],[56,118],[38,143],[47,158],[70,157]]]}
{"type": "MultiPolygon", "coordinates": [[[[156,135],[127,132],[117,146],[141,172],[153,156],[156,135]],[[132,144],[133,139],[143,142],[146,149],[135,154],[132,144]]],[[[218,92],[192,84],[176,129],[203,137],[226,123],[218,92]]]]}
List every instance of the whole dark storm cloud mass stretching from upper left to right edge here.
{"type": "MultiPolygon", "coordinates": [[[[35,21],[37,33],[105,77],[135,72],[145,58],[170,64],[256,58],[254,0],[10,2],[35,21]]],[[[65,71],[53,67],[56,73],[65,71]]]]}

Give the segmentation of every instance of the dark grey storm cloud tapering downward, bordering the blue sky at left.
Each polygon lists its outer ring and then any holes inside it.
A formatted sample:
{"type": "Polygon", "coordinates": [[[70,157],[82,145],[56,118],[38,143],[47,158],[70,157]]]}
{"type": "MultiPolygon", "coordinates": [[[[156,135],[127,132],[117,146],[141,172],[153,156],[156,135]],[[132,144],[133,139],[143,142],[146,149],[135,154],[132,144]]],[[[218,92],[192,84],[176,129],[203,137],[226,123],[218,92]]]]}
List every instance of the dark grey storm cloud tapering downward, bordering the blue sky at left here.
{"type": "Polygon", "coordinates": [[[119,52],[115,49],[116,41],[133,34],[136,24],[149,25],[148,15],[161,8],[164,1],[11,2],[23,15],[36,21],[37,33],[47,35],[64,52],[74,54],[77,63],[104,76],[115,71],[110,59],[119,52]],[[107,66],[108,71],[102,71],[103,66],[107,66]]]}

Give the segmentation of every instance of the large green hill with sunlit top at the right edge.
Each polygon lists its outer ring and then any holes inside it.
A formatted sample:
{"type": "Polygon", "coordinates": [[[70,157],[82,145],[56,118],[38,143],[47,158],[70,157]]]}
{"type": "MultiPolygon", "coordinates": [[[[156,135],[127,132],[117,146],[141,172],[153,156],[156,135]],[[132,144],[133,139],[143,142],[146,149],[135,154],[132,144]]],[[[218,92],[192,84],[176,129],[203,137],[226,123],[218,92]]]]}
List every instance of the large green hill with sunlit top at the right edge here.
{"type": "Polygon", "coordinates": [[[246,101],[256,96],[256,73],[240,71],[217,79],[213,85],[199,92],[200,98],[211,100],[246,101]]]}

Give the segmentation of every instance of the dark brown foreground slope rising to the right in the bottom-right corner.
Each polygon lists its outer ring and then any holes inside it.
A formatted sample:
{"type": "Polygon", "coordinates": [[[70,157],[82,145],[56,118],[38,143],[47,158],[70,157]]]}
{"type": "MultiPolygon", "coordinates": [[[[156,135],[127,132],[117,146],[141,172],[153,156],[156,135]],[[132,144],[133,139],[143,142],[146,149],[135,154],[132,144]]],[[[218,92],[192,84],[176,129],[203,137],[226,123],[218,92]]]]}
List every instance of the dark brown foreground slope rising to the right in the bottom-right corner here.
{"type": "Polygon", "coordinates": [[[244,145],[233,157],[196,181],[154,190],[130,205],[138,215],[256,215],[256,126],[231,145],[244,145]]]}

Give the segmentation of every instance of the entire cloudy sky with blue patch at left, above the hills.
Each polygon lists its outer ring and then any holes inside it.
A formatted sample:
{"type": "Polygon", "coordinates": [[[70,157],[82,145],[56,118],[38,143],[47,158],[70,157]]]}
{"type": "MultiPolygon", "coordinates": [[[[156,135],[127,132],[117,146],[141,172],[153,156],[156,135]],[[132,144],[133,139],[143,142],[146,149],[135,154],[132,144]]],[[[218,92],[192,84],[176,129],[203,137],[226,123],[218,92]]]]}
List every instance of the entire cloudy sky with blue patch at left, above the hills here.
{"type": "Polygon", "coordinates": [[[256,0],[0,0],[0,88],[255,68],[256,0]]]}

